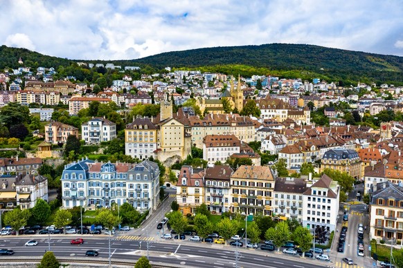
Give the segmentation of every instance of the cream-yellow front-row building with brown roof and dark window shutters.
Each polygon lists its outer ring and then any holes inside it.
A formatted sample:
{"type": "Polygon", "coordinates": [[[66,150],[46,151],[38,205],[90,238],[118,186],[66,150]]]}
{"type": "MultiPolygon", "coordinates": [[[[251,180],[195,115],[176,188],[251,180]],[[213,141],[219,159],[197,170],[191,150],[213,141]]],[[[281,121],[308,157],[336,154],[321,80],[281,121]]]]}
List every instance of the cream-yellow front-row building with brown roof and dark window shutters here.
{"type": "Polygon", "coordinates": [[[271,216],[274,183],[269,166],[240,166],[231,175],[231,211],[271,216]]]}

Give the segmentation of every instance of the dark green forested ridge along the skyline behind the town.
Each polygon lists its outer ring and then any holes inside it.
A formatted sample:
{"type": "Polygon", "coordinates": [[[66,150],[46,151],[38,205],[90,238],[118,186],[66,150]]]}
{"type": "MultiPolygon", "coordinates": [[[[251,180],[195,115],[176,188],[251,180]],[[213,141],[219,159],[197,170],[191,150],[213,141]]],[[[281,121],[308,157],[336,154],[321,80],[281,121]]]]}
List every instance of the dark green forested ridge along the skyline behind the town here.
{"type": "MultiPolygon", "coordinates": [[[[24,65],[69,66],[72,61],[48,57],[22,48],[0,47],[0,68],[16,68],[21,57],[24,65]]],[[[84,60],[75,60],[84,61],[84,60]]],[[[133,60],[84,61],[114,63],[119,66],[140,66],[142,73],[172,68],[193,68],[226,74],[274,75],[312,79],[344,84],[376,82],[403,85],[403,57],[297,44],[265,44],[261,46],[231,46],[164,52],[133,60]]]]}

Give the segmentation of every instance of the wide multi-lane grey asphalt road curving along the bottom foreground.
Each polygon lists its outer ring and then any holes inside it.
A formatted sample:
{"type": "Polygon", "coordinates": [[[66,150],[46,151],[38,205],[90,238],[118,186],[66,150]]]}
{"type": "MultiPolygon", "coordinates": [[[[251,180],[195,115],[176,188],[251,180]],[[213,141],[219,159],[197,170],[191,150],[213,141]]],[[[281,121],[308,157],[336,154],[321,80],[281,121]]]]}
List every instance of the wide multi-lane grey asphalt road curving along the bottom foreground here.
{"type": "MultiPolygon", "coordinates": [[[[20,256],[42,256],[48,249],[48,239],[45,236],[33,236],[39,244],[36,247],[24,247],[28,240],[25,238],[13,237],[7,240],[0,240],[0,248],[9,248],[15,251],[15,255],[10,258],[20,256]]],[[[31,237],[31,238],[33,238],[31,237]]],[[[96,249],[100,255],[98,257],[106,259],[109,256],[109,247],[107,236],[94,236],[86,238],[84,236],[83,245],[71,245],[70,240],[75,238],[73,235],[53,236],[51,237],[51,251],[56,257],[85,257],[85,251],[96,249]]],[[[115,238],[114,238],[115,239],[115,238]]],[[[112,260],[137,260],[140,256],[147,255],[146,242],[139,240],[111,240],[112,260]]],[[[150,243],[149,256],[154,263],[168,263],[175,267],[235,267],[235,247],[209,244],[201,242],[179,242],[169,241],[165,243],[150,243]]],[[[2,258],[8,258],[2,256],[2,258]]],[[[316,268],[326,267],[329,263],[319,260],[302,260],[299,256],[285,256],[283,253],[273,253],[267,251],[240,249],[240,260],[238,267],[292,267],[292,268],[316,268]],[[249,253],[249,252],[250,253],[249,253]]]]}

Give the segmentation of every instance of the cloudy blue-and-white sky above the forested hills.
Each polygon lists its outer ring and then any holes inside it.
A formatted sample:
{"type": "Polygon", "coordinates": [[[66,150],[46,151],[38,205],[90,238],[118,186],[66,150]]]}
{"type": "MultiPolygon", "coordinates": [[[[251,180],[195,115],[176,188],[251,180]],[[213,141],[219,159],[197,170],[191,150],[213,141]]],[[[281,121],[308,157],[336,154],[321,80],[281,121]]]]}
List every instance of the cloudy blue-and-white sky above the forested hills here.
{"type": "Polygon", "coordinates": [[[0,0],[0,44],[68,59],[314,44],[403,56],[403,0],[0,0]]]}

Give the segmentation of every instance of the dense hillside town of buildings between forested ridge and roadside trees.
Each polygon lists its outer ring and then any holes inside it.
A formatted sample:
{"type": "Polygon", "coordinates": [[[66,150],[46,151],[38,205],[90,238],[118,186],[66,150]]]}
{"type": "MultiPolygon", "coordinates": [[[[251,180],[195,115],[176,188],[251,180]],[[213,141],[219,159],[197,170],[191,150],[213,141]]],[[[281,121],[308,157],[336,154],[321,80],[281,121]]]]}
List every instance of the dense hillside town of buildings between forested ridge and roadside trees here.
{"type": "Polygon", "coordinates": [[[53,188],[61,209],[152,215],[171,189],[183,216],[204,204],[334,233],[363,204],[369,240],[402,245],[403,87],[78,62],[122,77],[101,86],[19,63],[0,72],[0,115],[24,107],[32,121],[25,136],[2,122],[2,144],[18,140],[1,147],[17,148],[0,158],[1,209],[32,209],[53,188]],[[40,172],[59,165],[59,182],[40,172]]]}

